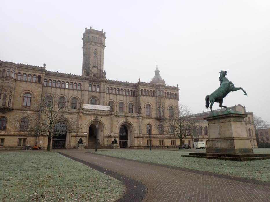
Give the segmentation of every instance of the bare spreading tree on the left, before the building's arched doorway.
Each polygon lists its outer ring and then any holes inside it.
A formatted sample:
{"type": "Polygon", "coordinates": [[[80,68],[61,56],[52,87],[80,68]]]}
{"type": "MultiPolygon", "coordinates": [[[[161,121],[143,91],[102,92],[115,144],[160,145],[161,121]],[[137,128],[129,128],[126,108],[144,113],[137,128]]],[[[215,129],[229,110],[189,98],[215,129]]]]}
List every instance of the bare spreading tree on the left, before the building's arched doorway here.
{"type": "MultiPolygon", "coordinates": [[[[46,96],[41,104],[38,104],[38,113],[27,113],[29,124],[23,126],[23,130],[32,134],[48,137],[47,151],[51,150],[53,137],[76,132],[80,128],[77,120],[64,116],[67,109],[66,103],[56,102],[54,98],[55,96],[46,96]]],[[[22,126],[20,129],[22,130],[22,126]]]]}

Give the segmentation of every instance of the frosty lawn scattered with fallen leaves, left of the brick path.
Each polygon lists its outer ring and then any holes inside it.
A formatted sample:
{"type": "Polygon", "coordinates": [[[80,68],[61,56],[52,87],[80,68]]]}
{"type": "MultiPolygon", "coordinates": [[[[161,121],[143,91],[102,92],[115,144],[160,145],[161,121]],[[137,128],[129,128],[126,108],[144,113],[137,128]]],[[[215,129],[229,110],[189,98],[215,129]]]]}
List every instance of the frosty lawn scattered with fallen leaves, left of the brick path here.
{"type": "Polygon", "coordinates": [[[0,153],[0,201],[114,201],[121,182],[55,152],[0,153]]]}

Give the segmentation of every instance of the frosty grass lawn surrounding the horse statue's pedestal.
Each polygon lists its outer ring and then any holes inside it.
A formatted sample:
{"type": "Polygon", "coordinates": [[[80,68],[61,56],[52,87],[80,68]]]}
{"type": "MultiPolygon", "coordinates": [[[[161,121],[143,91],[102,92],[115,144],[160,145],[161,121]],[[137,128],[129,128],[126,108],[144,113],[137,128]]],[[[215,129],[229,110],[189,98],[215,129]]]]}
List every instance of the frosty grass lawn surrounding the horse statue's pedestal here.
{"type": "MultiPolygon", "coordinates": [[[[206,152],[206,149],[114,149],[93,153],[270,182],[270,159],[238,162],[181,157],[191,151],[206,152]]],[[[255,148],[253,151],[269,154],[270,148],[255,148]]]]}

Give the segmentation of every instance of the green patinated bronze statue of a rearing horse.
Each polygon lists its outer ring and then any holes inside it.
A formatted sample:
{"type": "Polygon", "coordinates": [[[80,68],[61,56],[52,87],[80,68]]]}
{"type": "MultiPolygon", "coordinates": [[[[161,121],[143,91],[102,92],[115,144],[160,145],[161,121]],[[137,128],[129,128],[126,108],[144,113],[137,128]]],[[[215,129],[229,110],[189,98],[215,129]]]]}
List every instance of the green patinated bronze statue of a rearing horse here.
{"type": "Polygon", "coordinates": [[[214,102],[218,102],[220,107],[225,107],[226,111],[228,110],[228,107],[223,106],[222,103],[223,103],[223,98],[225,98],[225,96],[227,96],[228,93],[231,91],[242,90],[245,93],[245,95],[247,96],[247,93],[246,93],[246,91],[244,91],[243,88],[234,87],[234,84],[232,83],[232,81],[229,81],[229,79],[226,78],[227,71],[221,70],[221,72],[219,72],[219,73],[220,73],[220,76],[219,76],[220,86],[213,93],[211,93],[211,95],[207,95],[205,97],[205,107],[208,109],[209,102],[210,102],[211,103],[210,109],[211,109],[212,113],[214,113],[212,110],[212,106],[213,106],[214,102]]]}

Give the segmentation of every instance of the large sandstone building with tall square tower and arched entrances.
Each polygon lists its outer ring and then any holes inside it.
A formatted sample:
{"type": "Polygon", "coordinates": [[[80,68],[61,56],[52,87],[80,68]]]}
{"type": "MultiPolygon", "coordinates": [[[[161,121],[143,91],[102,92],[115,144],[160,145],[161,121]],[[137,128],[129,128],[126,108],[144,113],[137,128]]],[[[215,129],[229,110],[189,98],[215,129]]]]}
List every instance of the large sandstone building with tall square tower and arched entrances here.
{"type": "Polygon", "coordinates": [[[65,105],[61,116],[73,117],[80,126],[77,132],[56,136],[53,148],[76,148],[80,138],[86,147],[95,138],[103,146],[116,139],[120,147],[145,147],[149,131],[154,146],[180,144],[178,138],[159,130],[163,119],[178,110],[178,85],[167,86],[158,68],[149,83],[106,79],[105,39],[103,30],[85,29],[81,76],[47,71],[45,64],[39,67],[0,61],[0,149],[19,149],[26,144],[46,147],[47,136],[20,128],[28,124],[26,113],[37,115],[42,100],[52,97],[52,102],[65,105]],[[83,104],[110,106],[110,110],[86,109],[83,104]]]}

